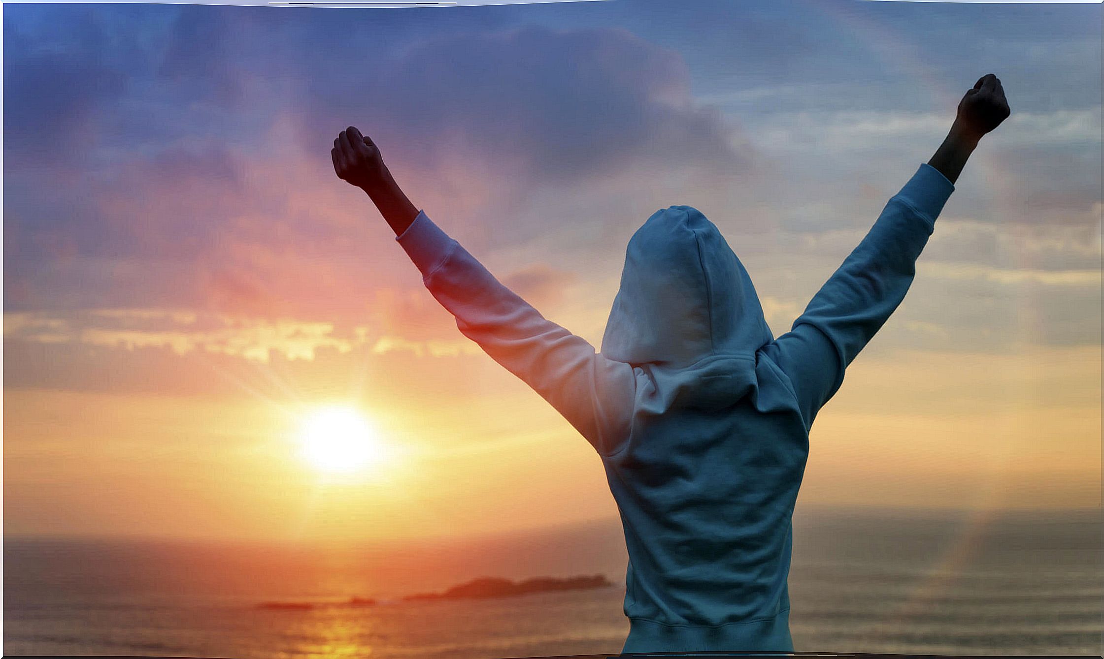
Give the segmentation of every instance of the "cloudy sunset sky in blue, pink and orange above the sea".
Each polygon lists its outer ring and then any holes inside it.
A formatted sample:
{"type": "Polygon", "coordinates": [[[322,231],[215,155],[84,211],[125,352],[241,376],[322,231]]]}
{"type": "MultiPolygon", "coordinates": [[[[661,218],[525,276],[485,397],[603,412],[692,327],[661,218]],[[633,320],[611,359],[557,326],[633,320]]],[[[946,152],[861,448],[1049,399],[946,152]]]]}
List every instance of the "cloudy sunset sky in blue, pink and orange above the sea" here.
{"type": "Polygon", "coordinates": [[[339,181],[416,206],[597,345],[689,204],[775,335],[996,73],[1012,116],[818,415],[798,508],[1095,507],[1101,4],[3,8],[9,536],[379,539],[616,517],[601,461],[457,331],[339,181]],[[300,452],[325,407],[388,455],[300,452]]]}

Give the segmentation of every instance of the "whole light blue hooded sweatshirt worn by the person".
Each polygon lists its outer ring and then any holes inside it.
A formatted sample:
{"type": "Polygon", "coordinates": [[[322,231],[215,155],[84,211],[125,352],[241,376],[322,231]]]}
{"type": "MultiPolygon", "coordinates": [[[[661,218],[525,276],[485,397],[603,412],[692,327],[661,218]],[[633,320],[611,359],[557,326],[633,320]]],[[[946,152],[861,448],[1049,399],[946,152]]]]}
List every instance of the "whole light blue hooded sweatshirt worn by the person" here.
{"type": "Polygon", "coordinates": [[[904,299],[954,188],[920,165],[778,338],[690,206],[657,210],[629,240],[601,353],[424,210],[396,237],[460,332],[602,456],[629,557],[624,652],[794,649],[786,580],[809,429],[904,299]]]}

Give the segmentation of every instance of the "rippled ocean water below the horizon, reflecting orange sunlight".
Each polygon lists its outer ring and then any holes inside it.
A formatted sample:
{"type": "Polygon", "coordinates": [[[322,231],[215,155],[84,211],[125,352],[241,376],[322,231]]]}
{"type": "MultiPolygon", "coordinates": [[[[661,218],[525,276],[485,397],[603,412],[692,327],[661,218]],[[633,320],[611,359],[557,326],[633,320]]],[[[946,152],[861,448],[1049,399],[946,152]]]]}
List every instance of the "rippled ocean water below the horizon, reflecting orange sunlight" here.
{"type": "MultiPolygon", "coordinates": [[[[803,509],[790,628],[799,651],[1082,655],[1104,650],[1098,510],[803,509]]],[[[331,548],[6,539],[6,655],[306,659],[615,653],[616,520],[465,541],[331,548]],[[615,585],[404,602],[476,576],[605,574],[615,585]],[[350,596],[374,606],[343,605],[350,596]],[[262,602],[311,603],[266,609],[262,602]]]]}

